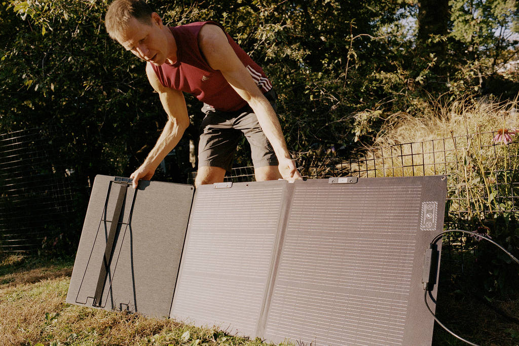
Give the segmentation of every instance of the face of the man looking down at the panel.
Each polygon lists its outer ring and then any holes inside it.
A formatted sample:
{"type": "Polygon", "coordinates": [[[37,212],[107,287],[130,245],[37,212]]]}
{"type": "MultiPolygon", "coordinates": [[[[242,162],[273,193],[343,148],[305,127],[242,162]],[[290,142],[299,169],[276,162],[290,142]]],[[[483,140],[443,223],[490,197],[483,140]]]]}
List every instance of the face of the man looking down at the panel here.
{"type": "Polygon", "coordinates": [[[142,60],[157,66],[162,65],[168,58],[167,37],[162,28],[162,21],[157,13],[153,13],[149,24],[132,18],[128,28],[117,37],[117,41],[142,60]]]}

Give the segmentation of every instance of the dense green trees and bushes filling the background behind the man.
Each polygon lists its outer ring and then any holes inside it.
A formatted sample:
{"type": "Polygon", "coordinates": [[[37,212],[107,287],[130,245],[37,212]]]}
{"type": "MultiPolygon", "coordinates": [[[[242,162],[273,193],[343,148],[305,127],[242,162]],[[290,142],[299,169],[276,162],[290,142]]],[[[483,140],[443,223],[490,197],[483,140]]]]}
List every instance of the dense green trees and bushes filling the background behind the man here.
{"type": "MultiPolygon", "coordinates": [[[[9,0],[0,7],[0,90],[9,95],[0,132],[56,124],[70,136],[66,156],[83,162],[79,171],[90,177],[131,173],[165,122],[144,64],[104,31],[107,4],[9,0]]],[[[274,82],[285,137],[299,152],[365,142],[389,114],[412,112],[430,94],[482,92],[517,47],[510,39],[517,4],[507,0],[450,1],[448,34],[418,46],[411,1],[152,5],[170,25],[222,23],[274,82]],[[438,44],[448,58],[433,49],[438,44]],[[376,114],[369,130],[359,121],[366,114],[376,114]]],[[[199,105],[188,98],[188,106],[194,126],[187,138],[196,139],[199,105]]],[[[179,174],[189,169],[187,148],[184,140],[175,149],[179,174]]]]}

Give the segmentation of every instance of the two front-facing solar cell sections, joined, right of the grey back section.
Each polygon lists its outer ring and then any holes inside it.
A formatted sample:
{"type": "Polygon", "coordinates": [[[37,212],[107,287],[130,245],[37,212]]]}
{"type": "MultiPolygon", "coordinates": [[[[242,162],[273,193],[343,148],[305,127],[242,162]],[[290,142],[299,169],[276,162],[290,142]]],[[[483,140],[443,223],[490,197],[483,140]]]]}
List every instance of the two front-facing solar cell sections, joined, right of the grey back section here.
{"type": "Polygon", "coordinates": [[[201,186],[170,316],[274,342],[430,345],[422,264],[445,197],[444,176],[201,186]]]}

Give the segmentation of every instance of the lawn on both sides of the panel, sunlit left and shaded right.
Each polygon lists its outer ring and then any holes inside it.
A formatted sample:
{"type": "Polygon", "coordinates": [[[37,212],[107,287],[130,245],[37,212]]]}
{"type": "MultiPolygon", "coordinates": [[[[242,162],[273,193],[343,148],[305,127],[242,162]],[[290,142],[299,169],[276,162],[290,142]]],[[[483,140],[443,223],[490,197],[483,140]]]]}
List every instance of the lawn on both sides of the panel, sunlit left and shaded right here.
{"type": "MultiPolygon", "coordinates": [[[[0,260],[0,345],[267,345],[216,328],[67,304],[72,265],[72,258],[0,260]]],[[[442,322],[481,345],[519,344],[519,300],[490,303],[448,281],[439,286],[442,322]]],[[[437,325],[433,339],[438,346],[464,344],[437,325]]]]}

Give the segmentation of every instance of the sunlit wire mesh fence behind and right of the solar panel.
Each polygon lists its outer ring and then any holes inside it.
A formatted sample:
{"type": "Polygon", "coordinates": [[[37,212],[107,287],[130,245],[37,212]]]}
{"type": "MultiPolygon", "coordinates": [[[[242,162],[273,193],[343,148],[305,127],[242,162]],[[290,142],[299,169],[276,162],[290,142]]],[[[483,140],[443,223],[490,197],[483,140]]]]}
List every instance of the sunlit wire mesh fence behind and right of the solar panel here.
{"type": "MultiPolygon", "coordinates": [[[[498,233],[510,249],[519,244],[519,143],[509,143],[511,137],[503,137],[503,131],[372,147],[348,157],[299,155],[296,164],[304,178],[446,175],[445,229],[498,233]]],[[[190,173],[189,181],[195,177],[190,173]]],[[[235,168],[225,181],[254,181],[254,169],[235,168]]],[[[449,272],[468,271],[476,235],[454,232],[444,237],[442,256],[449,272]]]]}

